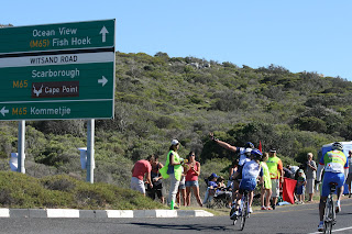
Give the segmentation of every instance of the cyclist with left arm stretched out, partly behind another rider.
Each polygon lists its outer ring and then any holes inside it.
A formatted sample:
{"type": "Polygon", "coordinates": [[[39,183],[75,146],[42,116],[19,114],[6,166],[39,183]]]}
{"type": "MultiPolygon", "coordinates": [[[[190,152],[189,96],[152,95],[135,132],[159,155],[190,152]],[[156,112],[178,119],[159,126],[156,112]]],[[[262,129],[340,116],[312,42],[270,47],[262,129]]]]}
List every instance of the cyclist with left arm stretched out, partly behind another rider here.
{"type": "MultiPolygon", "coordinates": [[[[220,145],[221,147],[229,149],[233,153],[240,154],[240,158],[239,158],[239,166],[238,166],[238,170],[243,166],[243,164],[245,161],[250,161],[250,156],[251,156],[251,152],[254,148],[253,143],[248,142],[245,143],[244,147],[237,147],[233,145],[230,145],[229,143],[222,142],[218,138],[216,138],[213,136],[213,133],[209,133],[211,141],[213,141],[215,143],[217,143],[218,145],[220,145]]],[[[237,192],[239,190],[239,185],[240,185],[240,180],[241,180],[242,175],[240,174],[235,179],[233,179],[233,183],[232,183],[232,199],[234,199],[237,197],[237,192]]]]}

